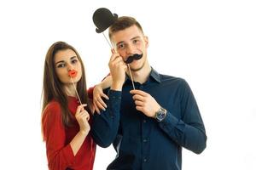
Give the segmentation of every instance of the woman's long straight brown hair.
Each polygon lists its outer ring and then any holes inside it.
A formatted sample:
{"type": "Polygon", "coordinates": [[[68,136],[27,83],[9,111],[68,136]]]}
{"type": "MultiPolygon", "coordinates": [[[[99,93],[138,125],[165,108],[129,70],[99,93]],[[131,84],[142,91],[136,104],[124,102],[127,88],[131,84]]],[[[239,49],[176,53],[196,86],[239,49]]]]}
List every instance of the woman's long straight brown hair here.
{"type": "MultiPolygon", "coordinates": [[[[46,54],[44,61],[44,86],[43,86],[43,108],[42,117],[44,114],[45,107],[49,104],[51,100],[57,101],[61,105],[61,116],[62,123],[65,127],[71,127],[73,125],[74,118],[67,105],[67,94],[64,92],[63,83],[59,80],[55,72],[55,54],[60,50],[71,49],[79,59],[82,67],[82,77],[77,83],[77,91],[81,99],[82,104],[87,104],[86,111],[90,113],[90,102],[88,99],[88,94],[86,91],[86,80],[84,64],[79,56],[79,53],[75,48],[66,42],[55,42],[52,44],[46,54]],[[89,109],[88,109],[89,108],[89,109]]],[[[43,128],[42,128],[43,129],[43,128]]],[[[43,132],[44,135],[44,132],[43,132]]]]}

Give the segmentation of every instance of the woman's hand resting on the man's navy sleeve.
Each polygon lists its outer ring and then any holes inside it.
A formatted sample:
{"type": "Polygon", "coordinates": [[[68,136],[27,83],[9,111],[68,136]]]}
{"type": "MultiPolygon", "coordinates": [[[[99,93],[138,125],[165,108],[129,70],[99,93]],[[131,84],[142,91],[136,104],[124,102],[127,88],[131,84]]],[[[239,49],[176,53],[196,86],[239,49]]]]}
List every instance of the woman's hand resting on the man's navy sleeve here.
{"type": "Polygon", "coordinates": [[[103,93],[102,84],[100,83],[93,89],[93,105],[98,114],[100,114],[100,110],[105,111],[107,108],[107,105],[102,98],[108,99],[108,95],[103,93]]]}

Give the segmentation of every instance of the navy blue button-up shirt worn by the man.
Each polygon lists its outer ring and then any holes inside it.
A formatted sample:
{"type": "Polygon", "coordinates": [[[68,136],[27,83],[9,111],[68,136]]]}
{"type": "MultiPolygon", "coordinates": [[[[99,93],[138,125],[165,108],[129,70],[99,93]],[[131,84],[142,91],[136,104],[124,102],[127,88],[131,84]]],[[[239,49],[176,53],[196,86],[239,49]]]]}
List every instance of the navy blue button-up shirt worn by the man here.
{"type": "Polygon", "coordinates": [[[154,69],[135,88],[150,94],[166,109],[157,122],[136,110],[126,78],[122,92],[108,90],[108,109],[95,114],[91,133],[97,144],[113,144],[117,156],[108,169],[180,170],[182,147],[200,154],[207,135],[194,95],[182,78],[160,75],[154,69]]]}

